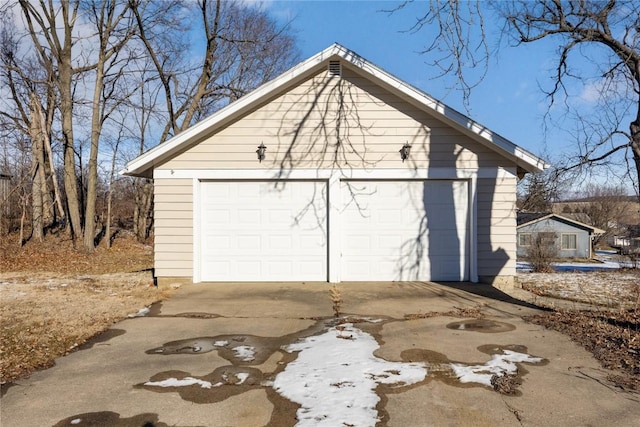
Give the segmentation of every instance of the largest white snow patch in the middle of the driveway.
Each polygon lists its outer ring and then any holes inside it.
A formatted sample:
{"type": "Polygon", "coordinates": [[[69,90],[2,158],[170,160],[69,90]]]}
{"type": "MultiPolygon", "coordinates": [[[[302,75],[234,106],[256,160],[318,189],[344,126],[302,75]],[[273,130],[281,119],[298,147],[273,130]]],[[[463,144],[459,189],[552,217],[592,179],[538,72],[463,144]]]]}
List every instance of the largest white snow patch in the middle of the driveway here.
{"type": "Polygon", "coordinates": [[[344,324],[284,347],[299,352],[274,380],[273,388],[302,405],[298,426],[375,426],[378,384],[409,385],[427,375],[424,363],[388,362],[369,334],[344,324]]]}

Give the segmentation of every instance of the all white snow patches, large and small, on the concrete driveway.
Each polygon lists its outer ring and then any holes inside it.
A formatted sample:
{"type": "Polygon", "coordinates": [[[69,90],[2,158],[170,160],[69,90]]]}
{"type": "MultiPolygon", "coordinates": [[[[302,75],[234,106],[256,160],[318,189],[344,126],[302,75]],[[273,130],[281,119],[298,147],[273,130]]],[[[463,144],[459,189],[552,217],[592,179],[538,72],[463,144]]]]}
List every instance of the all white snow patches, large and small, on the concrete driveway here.
{"type": "MultiPolygon", "coordinates": [[[[369,319],[379,322],[380,319],[369,319]]],[[[226,344],[220,342],[219,344],[226,344]]],[[[221,346],[222,347],[222,346],[221,346]]],[[[253,347],[236,352],[254,354],[253,347]]],[[[298,352],[273,381],[264,381],[262,386],[273,387],[285,398],[301,405],[297,412],[297,426],[375,426],[379,421],[376,410],[380,397],[376,393],[378,384],[402,387],[427,378],[426,362],[389,362],[374,356],[379,348],[375,338],[345,323],[328,328],[319,335],[304,338],[283,347],[289,353],[298,352]]],[[[484,365],[450,363],[452,376],[460,382],[473,382],[491,387],[492,375],[517,372],[516,363],[537,363],[541,358],[510,350],[493,355],[484,365]]],[[[249,373],[224,374],[223,382],[209,381],[186,376],[148,381],[152,387],[200,387],[211,389],[220,386],[243,384],[249,373]]]]}

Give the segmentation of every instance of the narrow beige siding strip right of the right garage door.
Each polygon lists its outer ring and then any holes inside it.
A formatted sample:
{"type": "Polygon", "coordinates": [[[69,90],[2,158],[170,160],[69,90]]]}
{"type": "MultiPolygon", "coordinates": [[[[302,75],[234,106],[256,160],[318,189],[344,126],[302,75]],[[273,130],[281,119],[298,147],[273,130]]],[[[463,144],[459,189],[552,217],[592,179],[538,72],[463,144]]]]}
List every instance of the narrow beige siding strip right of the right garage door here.
{"type": "Polygon", "coordinates": [[[478,275],[516,273],[516,178],[478,179],[478,275]]]}

